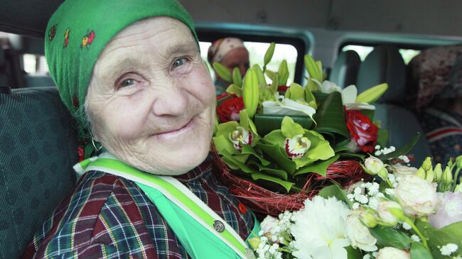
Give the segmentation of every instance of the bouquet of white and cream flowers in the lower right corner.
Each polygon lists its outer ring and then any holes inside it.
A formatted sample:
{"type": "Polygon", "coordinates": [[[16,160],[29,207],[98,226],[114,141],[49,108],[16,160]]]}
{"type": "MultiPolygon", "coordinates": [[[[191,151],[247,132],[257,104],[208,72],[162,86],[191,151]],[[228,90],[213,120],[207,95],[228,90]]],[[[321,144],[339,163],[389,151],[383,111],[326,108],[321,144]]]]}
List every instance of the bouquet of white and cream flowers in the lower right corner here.
{"type": "Polygon", "coordinates": [[[258,258],[462,258],[462,155],[444,170],[430,158],[419,169],[372,156],[362,166],[374,180],[267,216],[250,241],[258,258]]]}

